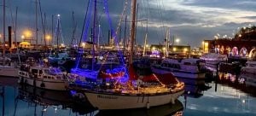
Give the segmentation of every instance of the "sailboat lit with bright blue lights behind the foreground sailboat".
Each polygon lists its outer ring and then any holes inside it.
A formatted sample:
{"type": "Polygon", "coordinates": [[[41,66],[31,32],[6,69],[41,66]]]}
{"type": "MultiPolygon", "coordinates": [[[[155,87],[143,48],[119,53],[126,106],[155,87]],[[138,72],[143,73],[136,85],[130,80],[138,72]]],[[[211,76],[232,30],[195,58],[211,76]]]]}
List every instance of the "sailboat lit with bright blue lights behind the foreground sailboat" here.
{"type": "MultiPolygon", "coordinates": [[[[81,54],[83,53],[79,53],[78,56],[78,60],[77,60],[77,66],[71,69],[71,75],[78,75],[79,77],[85,78],[87,81],[93,81],[96,82],[96,79],[98,76],[103,76],[103,77],[120,77],[120,76],[124,76],[124,72],[125,69],[123,66],[120,66],[120,55],[118,55],[118,53],[116,52],[111,52],[111,51],[107,51],[107,52],[100,52],[97,51],[95,47],[96,44],[96,38],[99,39],[99,35],[96,34],[96,28],[97,28],[97,21],[96,21],[96,1],[92,2],[89,1],[88,3],[88,8],[87,11],[93,11],[91,10],[92,8],[94,8],[94,18],[93,18],[93,32],[92,33],[92,53],[91,53],[91,57],[90,58],[84,58],[82,57],[81,54]],[[92,7],[94,6],[94,7],[92,7]],[[98,36],[98,37],[96,37],[98,36]],[[96,60],[96,52],[97,52],[97,56],[98,59],[96,60]],[[83,63],[81,63],[84,60],[83,63]],[[108,69],[108,70],[105,70],[108,69]],[[104,73],[102,73],[101,71],[104,70],[104,73]],[[118,72],[118,73],[117,73],[118,72]],[[100,75],[99,75],[100,73],[100,75]],[[121,75],[120,75],[121,74],[121,75]]],[[[84,32],[83,32],[83,38],[86,39],[87,38],[87,32],[89,30],[89,25],[90,25],[90,15],[92,14],[92,12],[88,12],[88,14],[85,16],[88,16],[87,18],[85,18],[85,22],[84,22],[84,32]]],[[[100,30],[100,26],[99,26],[99,30],[100,30]]],[[[80,44],[81,44],[81,40],[80,39],[80,44]]],[[[99,40],[98,40],[99,41],[99,40]]]]}

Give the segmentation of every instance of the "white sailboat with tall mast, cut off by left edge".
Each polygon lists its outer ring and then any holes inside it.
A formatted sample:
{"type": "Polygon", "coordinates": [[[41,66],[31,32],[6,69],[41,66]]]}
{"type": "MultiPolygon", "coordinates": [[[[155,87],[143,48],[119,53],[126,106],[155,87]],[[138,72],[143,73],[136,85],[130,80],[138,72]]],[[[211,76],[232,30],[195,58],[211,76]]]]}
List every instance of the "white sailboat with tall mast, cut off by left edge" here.
{"type": "Polygon", "coordinates": [[[6,61],[8,61],[8,58],[5,56],[5,0],[3,0],[3,44],[3,64],[0,65],[0,76],[18,77],[19,69],[15,68],[14,66],[10,66],[11,63],[9,63],[9,66],[6,65],[6,61]]]}

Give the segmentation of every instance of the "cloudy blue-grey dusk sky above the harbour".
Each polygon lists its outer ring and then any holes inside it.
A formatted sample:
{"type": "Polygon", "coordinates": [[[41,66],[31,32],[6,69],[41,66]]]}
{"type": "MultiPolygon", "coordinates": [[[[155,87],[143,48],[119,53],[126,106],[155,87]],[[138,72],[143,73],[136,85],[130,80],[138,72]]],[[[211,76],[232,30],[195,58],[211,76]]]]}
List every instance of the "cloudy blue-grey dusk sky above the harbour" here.
{"type": "MultiPolygon", "coordinates": [[[[3,0],[2,0],[3,1],[3,0]]],[[[1,4],[3,2],[1,1],[1,4]]],[[[61,30],[65,44],[70,44],[73,32],[72,12],[78,23],[76,38],[80,38],[89,0],[41,0],[43,13],[46,14],[47,32],[51,32],[51,15],[61,14],[61,30]]],[[[110,29],[107,15],[104,12],[103,0],[98,0],[98,15],[102,29],[101,43],[107,43],[110,29]]],[[[131,0],[128,0],[125,14],[130,20],[131,0]]],[[[148,43],[163,43],[167,28],[172,35],[180,39],[179,44],[200,46],[203,39],[213,39],[218,35],[232,38],[237,28],[253,26],[256,22],[256,1],[254,0],[137,0],[139,4],[138,20],[148,17],[148,43]],[[148,12],[148,13],[147,13],[148,12]]],[[[18,7],[18,40],[25,29],[33,31],[35,36],[35,0],[6,0],[7,26],[11,25],[10,10],[15,15],[18,7]]],[[[116,30],[119,16],[125,6],[125,0],[108,0],[108,8],[113,30],[116,30]]],[[[39,13],[39,11],[38,11],[39,13]]],[[[3,8],[1,7],[1,15],[3,8]]],[[[42,38],[41,17],[38,15],[39,38],[42,38]]],[[[125,18],[124,18],[125,19],[125,18]]],[[[124,20],[123,19],[123,20],[124,20]]],[[[3,16],[0,18],[3,22],[3,16]]],[[[56,22],[56,16],[54,23],[56,22]]],[[[92,21],[90,21],[92,23],[92,21]]],[[[137,43],[143,44],[147,21],[137,24],[137,43]]],[[[55,24],[56,25],[56,24],[55,24]]],[[[122,34],[124,37],[125,23],[122,21],[122,34]]],[[[128,27],[130,23],[128,23],[128,27]]],[[[91,27],[91,25],[90,25],[91,27]]],[[[1,25],[0,33],[3,33],[1,25]]],[[[129,31],[129,30],[128,30],[129,31]]],[[[127,32],[128,34],[130,32],[127,32]]],[[[127,34],[127,35],[128,35],[127,34]]]]}

